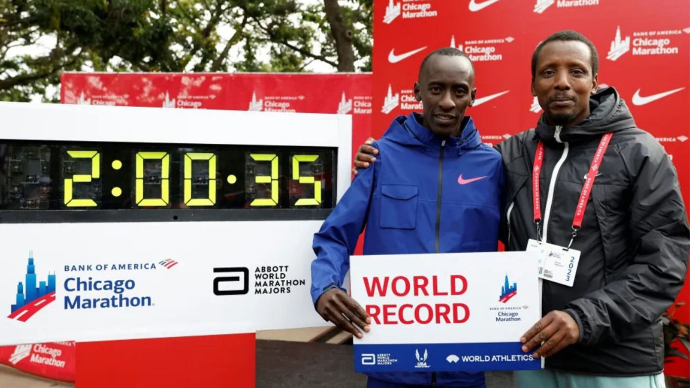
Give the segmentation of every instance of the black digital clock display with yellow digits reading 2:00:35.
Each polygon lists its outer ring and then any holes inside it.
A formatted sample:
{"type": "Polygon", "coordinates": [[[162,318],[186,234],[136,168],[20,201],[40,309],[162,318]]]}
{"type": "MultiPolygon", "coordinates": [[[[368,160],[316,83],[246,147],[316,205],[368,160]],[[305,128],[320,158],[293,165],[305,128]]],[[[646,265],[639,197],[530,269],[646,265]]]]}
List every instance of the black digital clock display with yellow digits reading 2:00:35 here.
{"type": "Polygon", "coordinates": [[[0,211],[332,209],[336,157],[335,147],[0,141],[0,211]]]}

